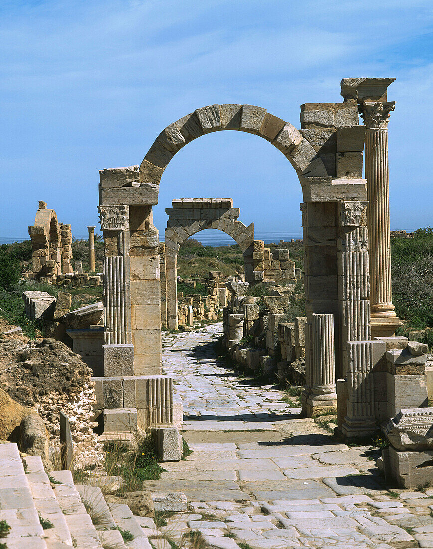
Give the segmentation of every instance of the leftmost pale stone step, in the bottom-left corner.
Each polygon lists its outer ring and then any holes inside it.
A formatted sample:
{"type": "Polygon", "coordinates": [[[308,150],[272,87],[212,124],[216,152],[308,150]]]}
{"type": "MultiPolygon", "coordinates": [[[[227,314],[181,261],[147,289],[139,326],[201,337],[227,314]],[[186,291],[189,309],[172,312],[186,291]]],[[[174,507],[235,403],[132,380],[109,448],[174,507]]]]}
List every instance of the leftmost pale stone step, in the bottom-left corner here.
{"type": "Polygon", "coordinates": [[[0,444],[0,520],[10,526],[2,541],[9,549],[46,549],[29,480],[15,442],[0,444]]]}

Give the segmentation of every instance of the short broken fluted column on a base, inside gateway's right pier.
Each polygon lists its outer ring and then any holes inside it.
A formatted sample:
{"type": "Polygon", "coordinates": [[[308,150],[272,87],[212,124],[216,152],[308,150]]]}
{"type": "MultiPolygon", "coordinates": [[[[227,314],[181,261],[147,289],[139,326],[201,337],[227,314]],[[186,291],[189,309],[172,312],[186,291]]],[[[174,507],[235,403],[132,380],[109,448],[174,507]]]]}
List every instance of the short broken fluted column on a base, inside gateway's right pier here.
{"type": "Polygon", "coordinates": [[[307,405],[309,416],[336,407],[334,315],[316,315],[312,318],[312,386],[307,405]]]}

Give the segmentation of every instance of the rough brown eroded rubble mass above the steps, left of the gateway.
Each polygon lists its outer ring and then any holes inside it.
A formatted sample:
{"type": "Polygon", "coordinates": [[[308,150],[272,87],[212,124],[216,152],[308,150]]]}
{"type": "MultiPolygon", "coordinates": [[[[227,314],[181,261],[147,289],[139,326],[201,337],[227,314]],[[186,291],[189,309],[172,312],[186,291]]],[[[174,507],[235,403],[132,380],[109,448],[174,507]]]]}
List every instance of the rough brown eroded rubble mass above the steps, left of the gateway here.
{"type": "Polygon", "coordinates": [[[92,371],[81,357],[54,339],[0,340],[0,357],[0,387],[42,417],[50,443],[59,443],[63,410],[70,418],[76,467],[101,463],[102,445],[91,421],[96,402],[92,371]]]}

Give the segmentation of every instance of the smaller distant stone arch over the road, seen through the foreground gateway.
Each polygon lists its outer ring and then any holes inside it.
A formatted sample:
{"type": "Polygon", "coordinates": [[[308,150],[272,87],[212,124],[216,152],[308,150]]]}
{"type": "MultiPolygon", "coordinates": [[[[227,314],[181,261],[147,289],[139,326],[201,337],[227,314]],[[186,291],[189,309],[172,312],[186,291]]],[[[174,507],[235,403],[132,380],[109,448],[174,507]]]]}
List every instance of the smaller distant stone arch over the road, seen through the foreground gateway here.
{"type": "Polygon", "coordinates": [[[254,282],[254,223],[248,227],[238,221],[239,208],[233,208],[231,198],[175,199],[173,208],[167,208],[165,229],[165,269],[167,323],[177,329],[177,253],[181,244],[193,234],[204,229],[218,229],[237,242],[245,261],[245,281],[254,282]]]}

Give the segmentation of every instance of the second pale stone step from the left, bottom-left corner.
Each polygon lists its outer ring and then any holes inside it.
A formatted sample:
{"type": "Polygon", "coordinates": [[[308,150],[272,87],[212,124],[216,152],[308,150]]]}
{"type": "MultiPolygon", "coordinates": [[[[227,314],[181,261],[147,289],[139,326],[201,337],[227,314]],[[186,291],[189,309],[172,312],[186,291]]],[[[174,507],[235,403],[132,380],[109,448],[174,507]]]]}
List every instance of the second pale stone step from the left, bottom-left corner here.
{"type": "Polygon", "coordinates": [[[24,461],[27,463],[27,479],[38,515],[53,524],[52,528],[43,531],[47,547],[57,549],[59,543],[72,547],[68,524],[43,467],[41,456],[27,456],[24,461]]]}

